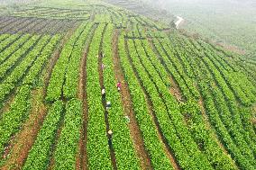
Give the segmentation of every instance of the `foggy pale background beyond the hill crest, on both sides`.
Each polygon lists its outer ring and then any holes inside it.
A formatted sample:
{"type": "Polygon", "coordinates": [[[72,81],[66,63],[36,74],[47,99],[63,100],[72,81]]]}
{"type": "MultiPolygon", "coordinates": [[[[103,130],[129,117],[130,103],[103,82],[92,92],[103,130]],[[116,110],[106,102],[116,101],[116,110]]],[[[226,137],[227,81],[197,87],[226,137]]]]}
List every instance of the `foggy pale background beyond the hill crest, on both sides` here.
{"type": "MultiPolygon", "coordinates": [[[[0,13],[3,8],[1,5],[41,1],[0,0],[0,13]]],[[[214,41],[226,49],[232,49],[242,54],[251,53],[253,56],[256,54],[256,0],[102,1],[120,4],[121,7],[135,13],[147,13],[148,17],[156,21],[162,21],[159,18],[165,17],[169,19],[166,21],[175,22],[177,16],[182,17],[184,22],[178,28],[187,31],[188,34],[198,34],[204,39],[214,41]]]]}

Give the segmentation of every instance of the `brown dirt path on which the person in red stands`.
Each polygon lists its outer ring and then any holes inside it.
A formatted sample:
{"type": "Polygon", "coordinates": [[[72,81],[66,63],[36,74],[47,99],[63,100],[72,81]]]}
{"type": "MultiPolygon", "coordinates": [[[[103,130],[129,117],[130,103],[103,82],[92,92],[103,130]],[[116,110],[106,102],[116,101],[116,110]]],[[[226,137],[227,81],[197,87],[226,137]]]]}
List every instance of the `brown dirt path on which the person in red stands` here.
{"type": "Polygon", "coordinates": [[[120,61],[118,57],[118,46],[117,46],[118,33],[119,33],[118,31],[114,31],[114,39],[112,43],[113,52],[114,52],[113,54],[114,55],[114,72],[115,72],[116,81],[122,82],[121,94],[122,94],[123,108],[124,108],[124,112],[130,118],[129,129],[133,139],[133,146],[136,149],[137,155],[141,159],[142,169],[144,170],[153,169],[151,166],[150,156],[144,147],[142,132],[140,130],[140,127],[135,118],[135,114],[133,112],[133,106],[132,106],[133,102],[132,102],[131,95],[129,94],[129,88],[128,88],[128,85],[125,83],[123,71],[120,66],[120,61]]]}

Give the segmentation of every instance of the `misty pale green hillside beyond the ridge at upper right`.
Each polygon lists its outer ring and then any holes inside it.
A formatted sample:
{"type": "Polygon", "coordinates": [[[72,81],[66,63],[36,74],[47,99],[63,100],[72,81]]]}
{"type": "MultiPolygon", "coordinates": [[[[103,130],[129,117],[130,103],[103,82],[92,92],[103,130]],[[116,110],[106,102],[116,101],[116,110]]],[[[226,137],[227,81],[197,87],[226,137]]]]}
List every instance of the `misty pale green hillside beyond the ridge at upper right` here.
{"type": "Polygon", "coordinates": [[[255,0],[142,0],[185,22],[181,29],[237,49],[256,51],[255,0]]]}

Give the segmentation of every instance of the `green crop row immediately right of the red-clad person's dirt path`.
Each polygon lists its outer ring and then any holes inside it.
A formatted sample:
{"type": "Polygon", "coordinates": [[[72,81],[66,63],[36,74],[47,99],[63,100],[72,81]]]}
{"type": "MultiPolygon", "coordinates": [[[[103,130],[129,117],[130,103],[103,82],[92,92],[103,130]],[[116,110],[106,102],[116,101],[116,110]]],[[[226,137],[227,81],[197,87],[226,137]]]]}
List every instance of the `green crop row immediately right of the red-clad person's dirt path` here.
{"type": "Polygon", "coordinates": [[[121,34],[118,41],[120,63],[130,89],[133,100],[133,111],[140,129],[142,130],[145,148],[148,150],[151,157],[152,166],[156,169],[163,167],[172,169],[169,158],[162,146],[162,141],[160,141],[158,136],[157,127],[149,113],[147,99],[145,98],[142,87],[133,72],[133,67],[129,63],[129,59],[127,58],[128,54],[126,54],[124,48],[124,35],[121,34]]]}

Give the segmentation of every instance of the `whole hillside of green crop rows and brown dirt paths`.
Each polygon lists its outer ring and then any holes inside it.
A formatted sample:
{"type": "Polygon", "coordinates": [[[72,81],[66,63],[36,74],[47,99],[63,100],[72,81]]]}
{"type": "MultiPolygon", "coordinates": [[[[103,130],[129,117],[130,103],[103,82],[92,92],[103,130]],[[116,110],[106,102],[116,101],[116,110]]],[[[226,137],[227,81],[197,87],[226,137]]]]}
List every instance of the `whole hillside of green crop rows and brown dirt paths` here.
{"type": "Polygon", "coordinates": [[[256,169],[253,58],[52,0],[2,14],[0,66],[1,169],[256,169]]]}

